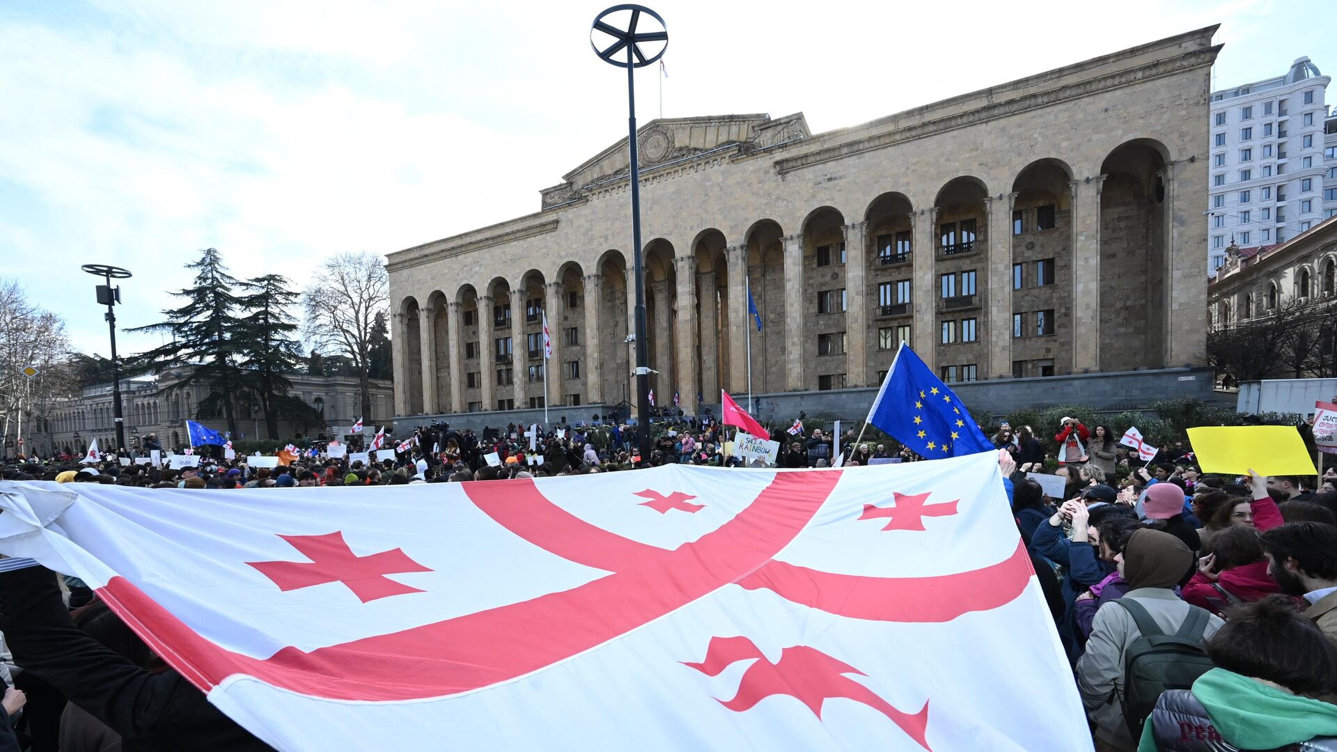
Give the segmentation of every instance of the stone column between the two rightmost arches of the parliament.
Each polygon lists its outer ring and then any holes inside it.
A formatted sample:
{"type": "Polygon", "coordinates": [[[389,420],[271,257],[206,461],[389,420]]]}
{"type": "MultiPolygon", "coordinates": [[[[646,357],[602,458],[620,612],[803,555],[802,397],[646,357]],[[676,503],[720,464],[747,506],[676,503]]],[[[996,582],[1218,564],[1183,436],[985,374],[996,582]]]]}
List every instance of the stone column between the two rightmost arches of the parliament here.
{"type": "Polygon", "coordinates": [[[1072,181],[1072,372],[1100,369],[1100,186],[1072,181]]]}

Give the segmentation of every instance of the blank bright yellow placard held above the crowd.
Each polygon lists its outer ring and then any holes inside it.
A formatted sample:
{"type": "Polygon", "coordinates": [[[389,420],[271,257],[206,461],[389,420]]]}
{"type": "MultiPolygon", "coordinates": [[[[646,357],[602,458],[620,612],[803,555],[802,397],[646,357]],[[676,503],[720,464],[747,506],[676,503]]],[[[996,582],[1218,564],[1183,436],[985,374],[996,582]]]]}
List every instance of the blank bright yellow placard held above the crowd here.
{"type": "Polygon", "coordinates": [[[1203,472],[1317,475],[1294,426],[1202,426],[1189,430],[1203,472]]]}

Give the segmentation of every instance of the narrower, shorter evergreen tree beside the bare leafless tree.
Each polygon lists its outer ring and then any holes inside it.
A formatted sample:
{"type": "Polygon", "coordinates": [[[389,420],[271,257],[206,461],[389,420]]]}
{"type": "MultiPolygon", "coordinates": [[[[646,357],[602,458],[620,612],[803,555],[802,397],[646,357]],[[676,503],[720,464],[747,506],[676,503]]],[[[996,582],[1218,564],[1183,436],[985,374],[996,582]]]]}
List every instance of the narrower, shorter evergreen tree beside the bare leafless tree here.
{"type": "Polygon", "coordinates": [[[294,397],[287,391],[293,384],[285,376],[297,372],[302,357],[291,337],[297,322],[289,312],[301,296],[287,289],[282,274],[255,277],[242,282],[242,288],[250,294],[237,300],[238,308],[247,313],[233,333],[238,365],[246,389],[265,415],[269,438],[277,440],[281,407],[282,412],[301,412],[290,404],[294,397]]]}

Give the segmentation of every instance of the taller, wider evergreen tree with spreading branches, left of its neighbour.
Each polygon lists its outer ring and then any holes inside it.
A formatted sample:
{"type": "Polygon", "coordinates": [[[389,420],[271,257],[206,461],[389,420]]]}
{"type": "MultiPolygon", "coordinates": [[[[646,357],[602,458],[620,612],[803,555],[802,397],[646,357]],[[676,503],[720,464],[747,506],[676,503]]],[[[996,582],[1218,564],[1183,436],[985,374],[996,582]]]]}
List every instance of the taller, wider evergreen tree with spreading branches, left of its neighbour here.
{"type": "Polygon", "coordinates": [[[237,435],[233,400],[243,388],[243,373],[237,365],[238,343],[231,335],[238,326],[238,298],[233,289],[241,282],[227,273],[215,248],[202,250],[199,260],[186,268],[195,270],[194,286],[172,293],[186,298],[186,305],[163,310],[166,321],[128,329],[167,332],[172,341],[127,359],[127,368],[189,367],[178,385],[206,384],[209,396],[199,401],[199,415],[222,412],[227,430],[237,435]]]}

